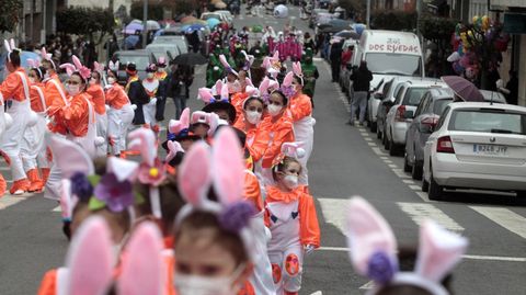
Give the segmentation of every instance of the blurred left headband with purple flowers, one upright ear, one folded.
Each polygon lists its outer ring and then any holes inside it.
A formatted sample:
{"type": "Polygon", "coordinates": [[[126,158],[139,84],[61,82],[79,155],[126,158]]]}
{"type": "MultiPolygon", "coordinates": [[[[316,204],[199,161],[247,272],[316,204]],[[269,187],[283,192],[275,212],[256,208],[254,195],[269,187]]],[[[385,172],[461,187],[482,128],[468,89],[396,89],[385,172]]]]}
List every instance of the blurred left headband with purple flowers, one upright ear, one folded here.
{"type": "Polygon", "coordinates": [[[111,212],[129,208],[134,202],[140,203],[140,196],[132,191],[138,163],[111,157],[107,159],[106,173],[96,175],[90,156],[77,144],[58,136],[47,137],[47,143],[57,157],[61,170],[60,207],[62,218],[71,219],[75,205],[89,204],[92,211],[106,207],[111,212]]]}

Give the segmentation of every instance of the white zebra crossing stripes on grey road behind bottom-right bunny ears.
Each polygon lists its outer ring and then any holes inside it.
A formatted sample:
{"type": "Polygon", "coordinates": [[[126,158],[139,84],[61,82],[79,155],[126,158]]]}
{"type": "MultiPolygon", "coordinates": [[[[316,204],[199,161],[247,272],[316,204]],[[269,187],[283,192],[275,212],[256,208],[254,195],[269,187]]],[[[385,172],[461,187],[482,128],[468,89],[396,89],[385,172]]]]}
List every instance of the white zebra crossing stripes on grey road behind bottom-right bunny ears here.
{"type": "MultiPolygon", "coordinates": [[[[320,203],[323,220],[327,224],[333,225],[345,235],[345,211],[348,200],[333,197],[316,197],[316,200],[320,203]]],[[[455,214],[449,213],[449,211],[446,211],[445,208],[438,207],[439,203],[395,202],[395,204],[400,214],[408,216],[415,226],[420,226],[423,220],[430,218],[448,230],[461,235],[469,235],[469,228],[472,230],[480,229],[478,228],[480,225],[477,223],[462,225],[461,222],[456,220],[453,217],[455,214]]],[[[468,209],[469,215],[476,214],[476,217],[487,218],[515,237],[526,239],[526,217],[510,208],[495,206],[466,206],[464,208],[468,209]]],[[[451,208],[450,211],[454,212],[456,209],[451,208]]],[[[391,211],[390,214],[392,215],[397,213],[391,211]]],[[[462,219],[466,220],[466,218],[462,219]]]]}

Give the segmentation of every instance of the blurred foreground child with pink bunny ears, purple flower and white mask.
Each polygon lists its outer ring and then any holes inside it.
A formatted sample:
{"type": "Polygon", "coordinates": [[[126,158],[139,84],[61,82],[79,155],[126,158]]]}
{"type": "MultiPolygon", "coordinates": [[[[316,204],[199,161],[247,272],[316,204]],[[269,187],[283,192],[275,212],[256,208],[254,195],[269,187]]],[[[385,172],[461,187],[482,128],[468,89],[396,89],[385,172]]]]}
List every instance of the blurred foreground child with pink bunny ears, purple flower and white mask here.
{"type": "Polygon", "coordinates": [[[211,154],[203,141],[186,152],[178,171],[187,201],[175,220],[178,294],[255,294],[245,282],[265,253],[254,241],[251,217],[256,211],[241,200],[243,170],[238,139],[229,128],[219,131],[211,154]],[[207,198],[209,192],[217,201],[207,198]],[[242,288],[244,293],[238,293],[242,288]]]}

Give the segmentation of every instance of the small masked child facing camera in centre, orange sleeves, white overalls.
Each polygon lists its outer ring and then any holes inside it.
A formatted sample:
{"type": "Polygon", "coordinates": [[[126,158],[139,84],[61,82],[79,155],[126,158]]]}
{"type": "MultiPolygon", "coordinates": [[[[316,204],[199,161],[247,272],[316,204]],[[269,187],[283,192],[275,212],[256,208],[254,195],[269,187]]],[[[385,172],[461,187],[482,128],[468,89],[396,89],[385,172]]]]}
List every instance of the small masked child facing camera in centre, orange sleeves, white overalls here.
{"type": "Polygon", "coordinates": [[[301,166],[295,157],[301,154],[297,144],[284,144],[272,168],[276,184],[266,188],[266,217],[272,232],[268,258],[277,294],[298,294],[304,256],[320,247],[312,196],[298,185],[301,166]]]}

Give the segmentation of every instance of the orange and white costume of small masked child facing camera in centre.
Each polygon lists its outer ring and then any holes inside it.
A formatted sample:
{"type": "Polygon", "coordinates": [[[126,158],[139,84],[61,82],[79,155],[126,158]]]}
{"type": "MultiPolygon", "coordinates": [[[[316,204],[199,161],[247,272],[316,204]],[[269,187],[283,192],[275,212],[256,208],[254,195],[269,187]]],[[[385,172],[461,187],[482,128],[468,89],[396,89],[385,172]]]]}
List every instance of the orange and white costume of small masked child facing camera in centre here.
{"type": "Polygon", "coordinates": [[[277,294],[297,293],[301,287],[304,249],[320,247],[315,202],[301,185],[290,192],[271,185],[266,193],[266,220],[272,232],[268,259],[277,294]]]}

